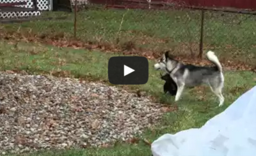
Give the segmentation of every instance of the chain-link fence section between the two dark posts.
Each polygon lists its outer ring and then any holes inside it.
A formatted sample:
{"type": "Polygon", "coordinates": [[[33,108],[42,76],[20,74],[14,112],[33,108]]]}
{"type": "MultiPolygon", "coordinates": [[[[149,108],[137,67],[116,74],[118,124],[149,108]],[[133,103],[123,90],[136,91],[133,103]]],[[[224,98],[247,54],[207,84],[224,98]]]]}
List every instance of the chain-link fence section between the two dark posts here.
{"type": "Polygon", "coordinates": [[[77,17],[77,38],[101,43],[161,51],[193,45],[200,37],[198,12],[111,9],[79,12],[77,17]]]}

